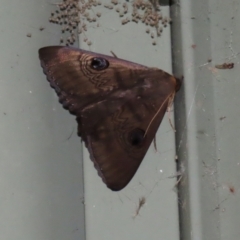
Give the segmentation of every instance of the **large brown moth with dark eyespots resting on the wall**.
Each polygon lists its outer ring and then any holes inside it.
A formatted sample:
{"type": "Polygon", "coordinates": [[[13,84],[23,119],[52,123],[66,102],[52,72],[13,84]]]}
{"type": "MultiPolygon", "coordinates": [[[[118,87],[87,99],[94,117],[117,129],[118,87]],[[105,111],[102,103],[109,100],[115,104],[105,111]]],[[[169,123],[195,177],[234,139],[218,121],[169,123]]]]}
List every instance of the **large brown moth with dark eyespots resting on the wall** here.
{"type": "Polygon", "coordinates": [[[73,47],[39,49],[50,85],[76,116],[103,182],[123,189],[136,173],[181,82],[172,75],[73,47]]]}

